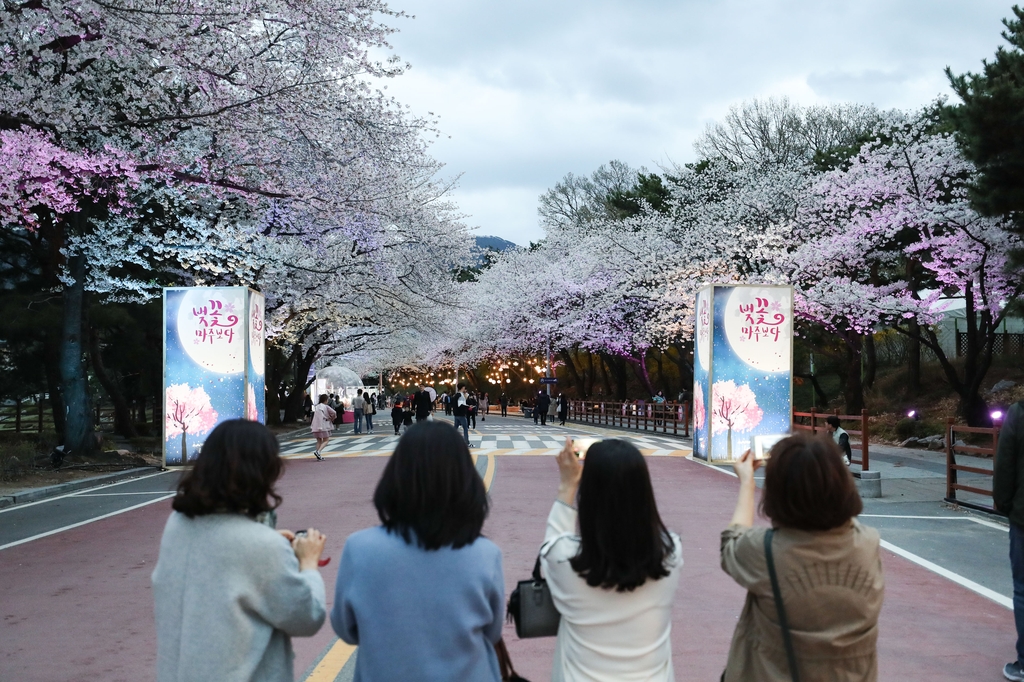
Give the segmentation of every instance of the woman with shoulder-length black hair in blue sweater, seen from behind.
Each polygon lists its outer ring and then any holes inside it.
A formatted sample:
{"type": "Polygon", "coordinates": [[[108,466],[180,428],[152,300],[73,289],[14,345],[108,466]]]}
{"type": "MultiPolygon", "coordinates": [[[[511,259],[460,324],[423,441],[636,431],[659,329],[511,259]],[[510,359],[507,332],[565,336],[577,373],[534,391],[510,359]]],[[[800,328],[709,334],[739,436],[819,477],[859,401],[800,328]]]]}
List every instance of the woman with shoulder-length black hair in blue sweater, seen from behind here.
{"type": "Polygon", "coordinates": [[[487,494],[447,422],[406,431],[374,505],[381,525],[349,536],[331,625],[357,644],[355,680],[483,680],[501,674],[502,553],[480,530],[487,494]]]}

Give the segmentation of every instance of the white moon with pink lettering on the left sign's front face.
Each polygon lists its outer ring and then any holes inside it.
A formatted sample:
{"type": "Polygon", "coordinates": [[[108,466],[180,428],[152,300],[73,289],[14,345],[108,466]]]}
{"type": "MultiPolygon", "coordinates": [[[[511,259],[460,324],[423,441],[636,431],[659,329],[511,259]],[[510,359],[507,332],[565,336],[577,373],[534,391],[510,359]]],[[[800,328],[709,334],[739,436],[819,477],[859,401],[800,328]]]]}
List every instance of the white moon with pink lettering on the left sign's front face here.
{"type": "Polygon", "coordinates": [[[182,297],[178,341],[200,367],[218,374],[240,374],[245,370],[244,292],[204,288],[182,297]]]}

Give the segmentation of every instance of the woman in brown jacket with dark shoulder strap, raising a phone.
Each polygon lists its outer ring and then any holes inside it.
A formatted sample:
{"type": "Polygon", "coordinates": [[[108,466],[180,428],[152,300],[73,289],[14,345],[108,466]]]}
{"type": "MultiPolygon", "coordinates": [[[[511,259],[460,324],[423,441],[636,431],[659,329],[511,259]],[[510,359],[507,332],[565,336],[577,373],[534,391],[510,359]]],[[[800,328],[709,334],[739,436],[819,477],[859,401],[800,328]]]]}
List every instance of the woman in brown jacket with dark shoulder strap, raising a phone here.
{"type": "Polygon", "coordinates": [[[723,679],[873,682],[885,588],[879,532],[854,518],[862,503],[842,454],[804,434],[775,443],[761,495],[771,528],[752,527],[758,466],[750,451],[733,465],[739,499],[722,531],[722,568],[748,591],[723,679]]]}

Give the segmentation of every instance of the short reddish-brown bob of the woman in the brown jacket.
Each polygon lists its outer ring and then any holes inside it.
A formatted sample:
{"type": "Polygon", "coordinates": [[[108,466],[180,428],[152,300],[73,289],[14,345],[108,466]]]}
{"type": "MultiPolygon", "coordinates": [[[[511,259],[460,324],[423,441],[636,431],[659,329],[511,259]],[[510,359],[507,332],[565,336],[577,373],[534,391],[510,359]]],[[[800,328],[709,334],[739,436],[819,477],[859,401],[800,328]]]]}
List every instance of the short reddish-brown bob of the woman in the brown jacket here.
{"type": "Polygon", "coordinates": [[[771,449],[761,513],[772,525],[829,530],[864,508],[839,447],[827,437],[792,435],[771,449]]]}

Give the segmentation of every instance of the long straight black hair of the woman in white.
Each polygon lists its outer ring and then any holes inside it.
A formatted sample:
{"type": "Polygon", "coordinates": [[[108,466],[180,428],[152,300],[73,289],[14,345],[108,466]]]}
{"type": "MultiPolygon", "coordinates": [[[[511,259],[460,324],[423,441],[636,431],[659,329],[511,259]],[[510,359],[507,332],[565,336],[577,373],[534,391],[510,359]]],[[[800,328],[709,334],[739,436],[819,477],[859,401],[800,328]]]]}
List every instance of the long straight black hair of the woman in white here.
{"type": "Polygon", "coordinates": [[[647,463],[632,443],[590,446],[577,504],[580,553],[569,563],[587,585],[626,592],[669,574],[673,540],[657,513],[647,463]]]}

